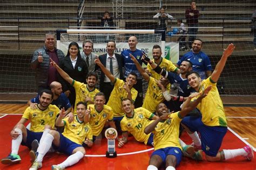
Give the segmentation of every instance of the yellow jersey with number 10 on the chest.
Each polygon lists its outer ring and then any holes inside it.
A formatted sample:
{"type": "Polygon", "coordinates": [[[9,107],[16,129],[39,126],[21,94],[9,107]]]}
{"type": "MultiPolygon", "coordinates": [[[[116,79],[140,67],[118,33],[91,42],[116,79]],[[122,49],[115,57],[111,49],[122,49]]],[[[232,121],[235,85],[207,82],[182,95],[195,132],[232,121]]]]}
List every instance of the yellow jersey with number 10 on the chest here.
{"type": "Polygon", "coordinates": [[[133,117],[129,118],[125,115],[121,120],[122,131],[130,132],[137,141],[147,144],[150,134],[145,134],[144,129],[150,124],[153,116],[153,113],[143,107],[136,108],[133,110],[133,117]]]}

